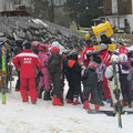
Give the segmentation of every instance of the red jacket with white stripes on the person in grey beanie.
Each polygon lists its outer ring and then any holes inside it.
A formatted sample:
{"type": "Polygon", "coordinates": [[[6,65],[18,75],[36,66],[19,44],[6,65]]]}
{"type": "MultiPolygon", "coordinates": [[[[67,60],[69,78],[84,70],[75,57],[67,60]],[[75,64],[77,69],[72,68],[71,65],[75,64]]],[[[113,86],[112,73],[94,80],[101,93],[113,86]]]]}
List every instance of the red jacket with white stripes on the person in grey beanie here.
{"type": "Polygon", "coordinates": [[[100,52],[100,58],[103,60],[103,62],[108,66],[109,63],[110,63],[110,60],[111,60],[111,53],[108,50],[101,51],[100,52]]]}

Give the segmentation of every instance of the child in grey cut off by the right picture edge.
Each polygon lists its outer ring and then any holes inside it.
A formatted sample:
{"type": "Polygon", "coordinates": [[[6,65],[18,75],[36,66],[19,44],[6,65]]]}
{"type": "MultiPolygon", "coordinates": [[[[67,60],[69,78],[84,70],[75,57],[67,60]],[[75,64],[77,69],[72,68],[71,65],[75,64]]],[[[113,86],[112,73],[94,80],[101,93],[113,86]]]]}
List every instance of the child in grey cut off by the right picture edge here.
{"type": "Polygon", "coordinates": [[[131,59],[131,69],[127,75],[127,80],[131,82],[132,99],[133,99],[133,59],[131,59]]]}

